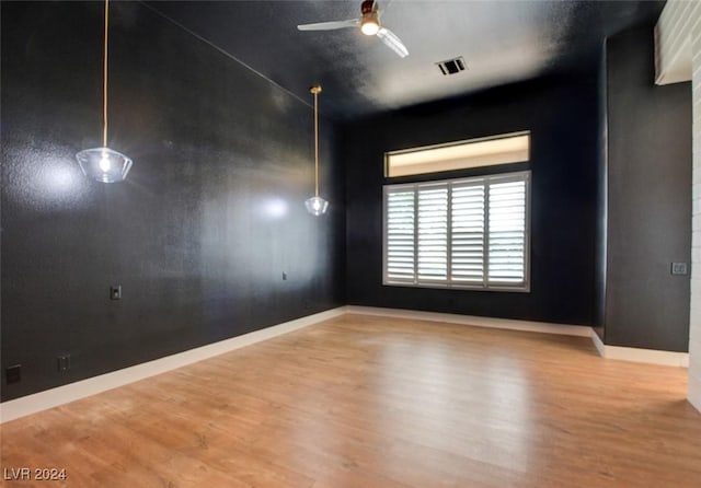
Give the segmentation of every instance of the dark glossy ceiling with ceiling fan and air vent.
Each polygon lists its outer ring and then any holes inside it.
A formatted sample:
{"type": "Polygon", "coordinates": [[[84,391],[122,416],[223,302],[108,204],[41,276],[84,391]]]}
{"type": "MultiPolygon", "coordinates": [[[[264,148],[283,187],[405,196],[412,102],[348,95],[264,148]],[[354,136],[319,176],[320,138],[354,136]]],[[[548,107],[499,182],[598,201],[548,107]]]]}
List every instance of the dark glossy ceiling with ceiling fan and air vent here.
{"type": "Polygon", "coordinates": [[[400,58],[356,28],[300,32],[298,24],[359,16],[360,1],[150,1],[152,9],[336,119],[464,95],[545,74],[590,72],[606,36],[654,23],[658,1],[380,2],[400,58]],[[468,69],[436,62],[462,56],[468,69]]]}

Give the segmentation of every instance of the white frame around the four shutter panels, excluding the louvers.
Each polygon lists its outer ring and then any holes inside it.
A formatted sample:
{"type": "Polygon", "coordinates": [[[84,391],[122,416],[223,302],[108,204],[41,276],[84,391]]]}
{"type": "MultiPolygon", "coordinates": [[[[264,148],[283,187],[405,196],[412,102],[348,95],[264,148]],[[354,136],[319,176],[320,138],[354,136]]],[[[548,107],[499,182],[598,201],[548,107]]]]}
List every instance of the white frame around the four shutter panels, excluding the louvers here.
{"type": "Polygon", "coordinates": [[[449,179],[434,179],[427,182],[413,182],[413,183],[398,183],[398,184],[386,184],[382,187],[382,284],[391,286],[391,287],[411,287],[411,288],[439,288],[439,289],[459,289],[459,290],[471,290],[471,291],[508,291],[508,292],[521,292],[528,293],[530,292],[530,283],[531,283],[531,171],[516,171],[508,173],[496,173],[496,174],[484,174],[479,176],[471,177],[458,177],[458,178],[449,178],[449,179]],[[490,201],[489,201],[489,193],[490,186],[494,183],[509,183],[509,182],[524,182],[525,183],[525,229],[524,229],[524,281],[518,284],[510,284],[505,281],[490,280],[489,279],[489,242],[490,242],[490,231],[489,231],[489,213],[490,213],[490,201]],[[482,249],[482,263],[483,263],[483,279],[482,283],[473,284],[473,283],[464,283],[464,282],[456,282],[452,280],[452,269],[451,269],[451,257],[452,257],[452,187],[458,186],[468,186],[474,185],[476,182],[483,182],[484,184],[484,247],[482,249]],[[447,200],[447,249],[446,249],[446,279],[445,280],[420,280],[418,278],[418,190],[420,188],[428,188],[428,187],[440,187],[445,186],[448,189],[447,200]],[[388,277],[388,260],[389,260],[389,249],[388,249],[388,197],[391,193],[398,193],[402,189],[407,189],[413,191],[414,194],[414,277],[413,279],[389,279],[388,277]]]}

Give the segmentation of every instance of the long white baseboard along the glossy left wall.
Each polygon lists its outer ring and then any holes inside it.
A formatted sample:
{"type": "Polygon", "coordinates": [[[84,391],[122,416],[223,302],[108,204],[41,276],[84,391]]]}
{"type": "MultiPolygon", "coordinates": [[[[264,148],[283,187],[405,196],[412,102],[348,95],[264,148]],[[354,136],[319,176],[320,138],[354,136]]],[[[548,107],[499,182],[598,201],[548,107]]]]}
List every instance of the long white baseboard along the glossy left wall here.
{"type": "Polygon", "coordinates": [[[255,342],[261,342],[319,322],[337,317],[344,313],[344,306],[327,310],[325,312],[285,322],[261,330],[244,334],[242,336],[232,337],[219,342],[166,356],[165,358],[156,359],[153,361],[125,368],[123,370],[113,371],[111,373],[101,374],[76,383],[70,383],[56,388],[46,390],[44,392],[4,402],[0,404],[0,423],[9,422],[10,420],[36,414],[37,411],[46,410],[48,408],[54,408],[107,390],[124,386],[129,383],[175,370],[255,342]]]}

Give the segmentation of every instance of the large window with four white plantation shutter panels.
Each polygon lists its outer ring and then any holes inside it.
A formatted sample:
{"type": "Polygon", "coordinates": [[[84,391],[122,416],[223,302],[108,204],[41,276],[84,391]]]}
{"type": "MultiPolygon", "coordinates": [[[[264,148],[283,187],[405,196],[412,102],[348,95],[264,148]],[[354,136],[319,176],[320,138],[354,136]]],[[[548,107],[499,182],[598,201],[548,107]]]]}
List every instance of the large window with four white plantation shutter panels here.
{"type": "Polygon", "coordinates": [[[384,284],[529,290],[530,172],[384,187],[384,284]]]}

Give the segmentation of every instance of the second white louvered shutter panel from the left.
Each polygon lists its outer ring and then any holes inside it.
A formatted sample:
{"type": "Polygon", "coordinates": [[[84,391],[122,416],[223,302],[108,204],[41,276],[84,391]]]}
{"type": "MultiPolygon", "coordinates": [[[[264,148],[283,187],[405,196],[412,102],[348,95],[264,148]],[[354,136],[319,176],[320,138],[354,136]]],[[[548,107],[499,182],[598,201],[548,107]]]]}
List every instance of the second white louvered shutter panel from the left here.
{"type": "Polygon", "coordinates": [[[445,281],[448,278],[448,186],[418,189],[420,281],[445,281]]]}

